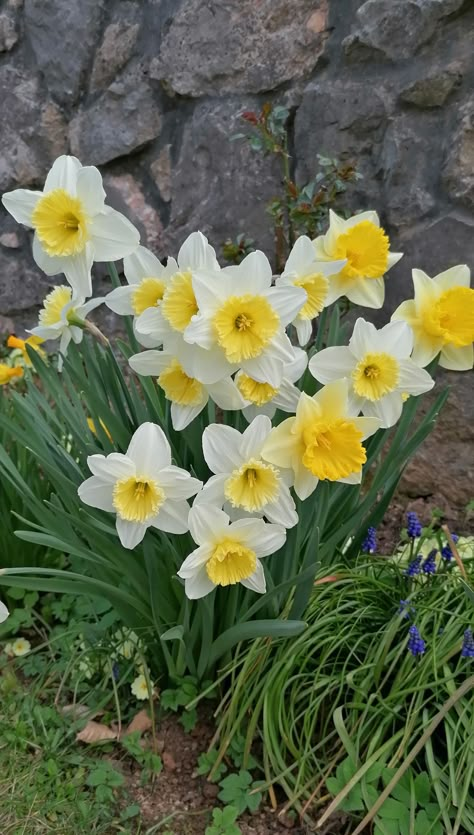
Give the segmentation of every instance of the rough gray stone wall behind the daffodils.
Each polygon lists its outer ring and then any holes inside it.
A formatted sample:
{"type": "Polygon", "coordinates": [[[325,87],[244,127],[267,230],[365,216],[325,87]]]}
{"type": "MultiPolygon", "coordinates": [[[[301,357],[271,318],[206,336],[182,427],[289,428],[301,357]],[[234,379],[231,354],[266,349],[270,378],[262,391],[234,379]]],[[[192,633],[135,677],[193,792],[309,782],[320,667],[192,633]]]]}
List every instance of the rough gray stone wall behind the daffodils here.
{"type": "MultiPolygon", "coordinates": [[[[473,261],[473,32],[474,0],[3,0],[0,189],[40,186],[73,153],[158,254],[196,228],[271,250],[278,172],[229,136],[243,110],[283,103],[298,180],[317,153],[356,160],[353,207],[406,253],[386,316],[412,266],[473,261]]],[[[45,289],[3,213],[0,314],[30,323],[45,289]]]]}

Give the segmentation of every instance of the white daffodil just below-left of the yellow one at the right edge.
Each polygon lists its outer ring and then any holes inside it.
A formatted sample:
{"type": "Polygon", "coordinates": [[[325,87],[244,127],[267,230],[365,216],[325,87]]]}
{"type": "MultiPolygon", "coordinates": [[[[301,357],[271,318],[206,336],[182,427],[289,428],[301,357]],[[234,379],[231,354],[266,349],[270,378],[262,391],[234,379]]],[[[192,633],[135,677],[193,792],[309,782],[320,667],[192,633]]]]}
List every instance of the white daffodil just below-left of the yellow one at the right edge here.
{"type": "Polygon", "coordinates": [[[377,417],[387,429],[399,419],[404,395],[423,394],[434,380],[410,354],[413,332],[405,322],[390,322],[377,330],[357,319],[348,346],[325,348],[309,361],[309,370],[320,383],[347,377],[355,413],[377,417]]]}

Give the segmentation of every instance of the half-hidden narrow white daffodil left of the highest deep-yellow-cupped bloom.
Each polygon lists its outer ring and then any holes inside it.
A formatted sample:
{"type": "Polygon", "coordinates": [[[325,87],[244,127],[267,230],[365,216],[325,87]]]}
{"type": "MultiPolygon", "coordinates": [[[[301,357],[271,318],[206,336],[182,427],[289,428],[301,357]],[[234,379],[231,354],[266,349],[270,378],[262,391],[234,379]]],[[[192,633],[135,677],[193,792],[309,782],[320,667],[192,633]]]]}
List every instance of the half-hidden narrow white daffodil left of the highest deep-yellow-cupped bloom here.
{"type": "Polygon", "coordinates": [[[306,301],[292,321],[296,328],[298,342],[306,345],[311,338],[312,323],[327,305],[329,295],[328,276],[340,272],[347,264],[341,261],[316,261],[314,244],[301,235],[291,250],[285,269],[275,284],[276,287],[302,287],[306,291],[306,301]]]}

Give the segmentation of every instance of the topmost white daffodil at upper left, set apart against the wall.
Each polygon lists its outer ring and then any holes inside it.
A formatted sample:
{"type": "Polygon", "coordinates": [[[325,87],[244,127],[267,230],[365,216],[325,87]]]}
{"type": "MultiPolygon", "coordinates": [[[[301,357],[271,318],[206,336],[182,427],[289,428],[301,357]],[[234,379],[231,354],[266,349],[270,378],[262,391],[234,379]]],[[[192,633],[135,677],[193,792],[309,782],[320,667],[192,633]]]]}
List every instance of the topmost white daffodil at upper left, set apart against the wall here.
{"type": "Polygon", "coordinates": [[[116,261],[138,246],[135,227],[105,205],[102,177],[76,157],[54,162],[43,191],[16,189],[2,197],[6,210],[35,230],[33,258],[46,275],[64,273],[76,292],[92,293],[93,261],[116,261]]]}

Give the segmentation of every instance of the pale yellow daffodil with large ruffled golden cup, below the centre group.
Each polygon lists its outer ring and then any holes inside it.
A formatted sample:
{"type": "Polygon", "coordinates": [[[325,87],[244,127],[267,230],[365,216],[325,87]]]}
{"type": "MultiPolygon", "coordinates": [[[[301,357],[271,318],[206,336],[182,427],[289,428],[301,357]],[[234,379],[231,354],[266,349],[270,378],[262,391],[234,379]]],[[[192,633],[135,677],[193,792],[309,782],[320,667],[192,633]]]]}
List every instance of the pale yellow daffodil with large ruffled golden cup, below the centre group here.
{"type": "Polygon", "coordinates": [[[262,457],[294,473],[295,492],[307,499],[320,479],[359,484],[366,452],[362,441],[380,427],[374,417],[354,417],[347,380],[301,394],[295,417],[270,432],[262,457]]]}

